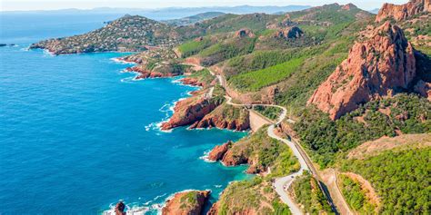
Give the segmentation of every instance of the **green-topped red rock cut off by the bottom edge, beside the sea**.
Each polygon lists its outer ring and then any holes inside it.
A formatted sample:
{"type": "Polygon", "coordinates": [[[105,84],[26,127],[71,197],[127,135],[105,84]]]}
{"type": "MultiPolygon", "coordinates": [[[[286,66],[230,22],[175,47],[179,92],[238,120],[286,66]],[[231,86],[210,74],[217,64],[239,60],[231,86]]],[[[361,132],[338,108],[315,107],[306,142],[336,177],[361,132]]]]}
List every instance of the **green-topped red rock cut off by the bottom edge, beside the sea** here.
{"type": "Polygon", "coordinates": [[[178,192],[162,209],[163,215],[200,215],[204,210],[210,191],[178,192]]]}

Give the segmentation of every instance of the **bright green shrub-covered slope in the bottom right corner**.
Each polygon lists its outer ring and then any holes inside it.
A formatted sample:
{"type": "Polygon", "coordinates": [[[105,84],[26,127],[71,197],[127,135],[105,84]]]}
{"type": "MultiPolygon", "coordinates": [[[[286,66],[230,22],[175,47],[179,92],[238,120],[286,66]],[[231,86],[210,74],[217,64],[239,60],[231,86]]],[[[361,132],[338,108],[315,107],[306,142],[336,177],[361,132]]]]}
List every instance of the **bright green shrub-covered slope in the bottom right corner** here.
{"type": "Polygon", "coordinates": [[[346,160],[341,163],[341,170],[356,172],[371,182],[383,200],[381,213],[429,214],[429,163],[431,148],[427,147],[384,151],[365,160],[346,160]]]}

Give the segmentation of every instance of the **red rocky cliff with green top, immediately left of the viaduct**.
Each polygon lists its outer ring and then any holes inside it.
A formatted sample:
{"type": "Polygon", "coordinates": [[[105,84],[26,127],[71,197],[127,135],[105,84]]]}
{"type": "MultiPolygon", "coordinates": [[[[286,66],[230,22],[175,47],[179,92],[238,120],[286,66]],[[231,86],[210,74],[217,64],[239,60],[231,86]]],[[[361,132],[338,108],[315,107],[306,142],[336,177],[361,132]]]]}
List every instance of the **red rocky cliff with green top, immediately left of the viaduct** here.
{"type": "Polygon", "coordinates": [[[223,104],[190,126],[191,129],[214,127],[236,131],[248,130],[250,128],[248,111],[241,107],[223,104]]]}

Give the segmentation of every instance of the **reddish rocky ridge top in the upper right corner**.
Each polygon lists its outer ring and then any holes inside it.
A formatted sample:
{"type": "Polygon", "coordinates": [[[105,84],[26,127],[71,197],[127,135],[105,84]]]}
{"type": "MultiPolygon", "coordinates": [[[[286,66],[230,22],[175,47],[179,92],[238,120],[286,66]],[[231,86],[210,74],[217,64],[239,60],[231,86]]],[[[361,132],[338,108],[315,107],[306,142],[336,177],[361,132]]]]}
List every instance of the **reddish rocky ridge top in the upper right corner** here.
{"type": "Polygon", "coordinates": [[[414,15],[430,11],[431,0],[411,0],[404,5],[386,3],[378,11],[376,22],[382,22],[387,18],[393,18],[396,21],[403,21],[414,15]]]}

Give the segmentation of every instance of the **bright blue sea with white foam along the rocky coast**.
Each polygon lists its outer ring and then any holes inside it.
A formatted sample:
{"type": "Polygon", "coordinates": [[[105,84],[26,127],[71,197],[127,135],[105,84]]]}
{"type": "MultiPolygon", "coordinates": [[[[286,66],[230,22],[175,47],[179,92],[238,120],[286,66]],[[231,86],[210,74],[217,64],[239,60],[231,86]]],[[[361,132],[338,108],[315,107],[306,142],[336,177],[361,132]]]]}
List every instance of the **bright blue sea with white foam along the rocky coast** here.
{"type": "Polygon", "coordinates": [[[118,200],[156,207],[177,191],[211,190],[247,177],[201,157],[246,132],[160,132],[176,101],[195,90],[175,79],[133,81],[125,54],[53,56],[27,50],[115,17],[1,15],[0,214],[97,214],[118,200]]]}

